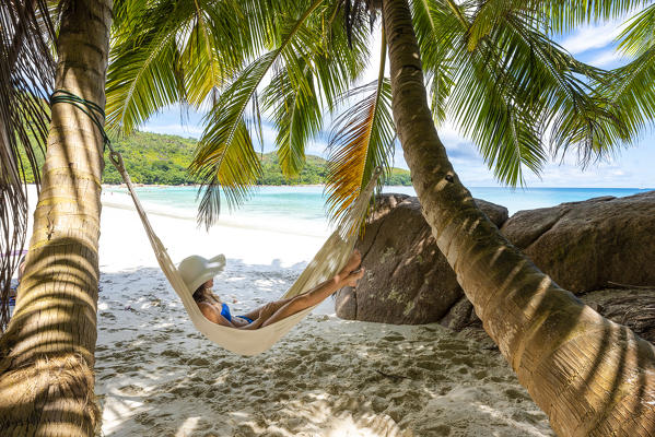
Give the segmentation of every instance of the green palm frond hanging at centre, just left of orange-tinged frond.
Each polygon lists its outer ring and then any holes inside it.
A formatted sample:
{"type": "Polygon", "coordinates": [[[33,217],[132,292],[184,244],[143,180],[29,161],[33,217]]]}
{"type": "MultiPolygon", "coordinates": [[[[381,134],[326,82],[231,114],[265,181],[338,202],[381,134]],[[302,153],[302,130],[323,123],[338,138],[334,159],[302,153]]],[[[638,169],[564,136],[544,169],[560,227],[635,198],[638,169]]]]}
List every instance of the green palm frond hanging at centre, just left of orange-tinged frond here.
{"type": "Polygon", "coordinates": [[[361,28],[352,29],[347,46],[346,33],[335,21],[336,8],[327,4],[316,11],[307,23],[312,32],[299,35],[294,48],[285,51],[264,93],[265,110],[278,129],[276,146],[286,177],[303,168],[305,145],[323,127],[323,108],[331,108],[348,90],[369,54],[369,33],[361,28]]]}

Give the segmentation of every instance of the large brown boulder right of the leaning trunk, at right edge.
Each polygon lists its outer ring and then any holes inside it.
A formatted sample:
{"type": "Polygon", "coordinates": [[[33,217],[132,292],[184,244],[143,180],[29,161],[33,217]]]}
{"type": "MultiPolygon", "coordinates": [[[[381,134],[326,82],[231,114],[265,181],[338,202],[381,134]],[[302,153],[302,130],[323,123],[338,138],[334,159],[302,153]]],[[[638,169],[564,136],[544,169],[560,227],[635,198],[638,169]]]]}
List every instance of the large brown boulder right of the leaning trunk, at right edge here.
{"type": "Polygon", "coordinates": [[[655,284],[655,191],[519,211],[501,232],[573,293],[655,284]]]}

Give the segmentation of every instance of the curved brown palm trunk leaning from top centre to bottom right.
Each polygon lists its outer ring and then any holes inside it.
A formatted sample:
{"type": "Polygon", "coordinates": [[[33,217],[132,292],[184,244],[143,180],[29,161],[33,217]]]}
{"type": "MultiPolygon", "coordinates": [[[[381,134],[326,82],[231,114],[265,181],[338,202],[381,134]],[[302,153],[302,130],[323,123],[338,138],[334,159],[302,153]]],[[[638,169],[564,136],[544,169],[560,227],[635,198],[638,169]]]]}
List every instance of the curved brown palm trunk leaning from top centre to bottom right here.
{"type": "Polygon", "coordinates": [[[423,215],[484,329],[561,436],[654,436],[655,349],[560,288],[476,206],[432,121],[407,0],[385,0],[393,110],[423,215]]]}

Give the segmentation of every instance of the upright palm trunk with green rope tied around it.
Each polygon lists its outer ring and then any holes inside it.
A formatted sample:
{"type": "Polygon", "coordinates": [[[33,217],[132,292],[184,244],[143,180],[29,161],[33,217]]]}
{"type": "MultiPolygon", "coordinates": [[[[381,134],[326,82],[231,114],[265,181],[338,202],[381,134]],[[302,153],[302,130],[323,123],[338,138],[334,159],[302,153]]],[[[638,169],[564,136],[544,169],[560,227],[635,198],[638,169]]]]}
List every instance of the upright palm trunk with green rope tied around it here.
{"type": "MultiPolygon", "coordinates": [[[[112,0],[66,2],[56,88],[101,106],[112,0]]],[[[42,190],[16,311],[0,339],[0,430],[92,436],[103,141],[71,105],[52,107],[42,190]]]]}

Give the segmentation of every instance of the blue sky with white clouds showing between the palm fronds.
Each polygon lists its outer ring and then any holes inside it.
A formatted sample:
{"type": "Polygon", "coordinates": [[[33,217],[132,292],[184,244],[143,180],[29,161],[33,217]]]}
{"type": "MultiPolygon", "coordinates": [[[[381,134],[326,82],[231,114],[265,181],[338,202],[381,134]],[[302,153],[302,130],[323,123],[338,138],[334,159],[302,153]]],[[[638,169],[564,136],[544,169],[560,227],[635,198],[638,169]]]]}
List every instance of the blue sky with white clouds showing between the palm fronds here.
{"type": "MultiPolygon", "coordinates": [[[[616,68],[627,60],[615,51],[615,38],[620,33],[622,21],[605,22],[580,27],[575,32],[558,38],[558,42],[583,62],[604,69],[616,68]]],[[[375,42],[378,46],[379,42],[375,42]]],[[[363,82],[377,76],[377,47],[372,50],[372,66],[364,75],[363,82]]],[[[378,56],[378,55],[377,55],[378,56]]],[[[202,116],[190,111],[184,117],[177,107],[168,108],[148,121],[142,130],[199,138],[202,133],[202,116]],[[183,122],[184,118],[184,122],[183,122]]],[[[328,127],[329,129],[329,127],[328,127]]],[[[272,151],[276,137],[274,128],[265,125],[265,152],[272,151]]],[[[483,163],[475,145],[449,127],[440,129],[440,137],[446,145],[448,156],[455,170],[465,185],[470,187],[495,187],[498,181],[483,163]]],[[[307,154],[326,156],[326,141],[319,139],[307,147],[307,154]]],[[[528,187],[630,187],[655,188],[655,135],[653,131],[644,132],[633,146],[622,149],[617,155],[603,162],[588,165],[582,169],[576,165],[576,156],[571,153],[561,160],[549,162],[540,175],[526,170],[528,187]]],[[[402,150],[396,149],[394,165],[408,168],[402,157],[402,150]]]]}

